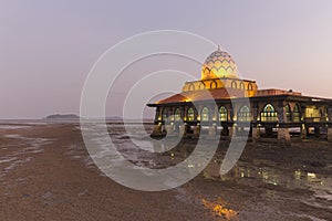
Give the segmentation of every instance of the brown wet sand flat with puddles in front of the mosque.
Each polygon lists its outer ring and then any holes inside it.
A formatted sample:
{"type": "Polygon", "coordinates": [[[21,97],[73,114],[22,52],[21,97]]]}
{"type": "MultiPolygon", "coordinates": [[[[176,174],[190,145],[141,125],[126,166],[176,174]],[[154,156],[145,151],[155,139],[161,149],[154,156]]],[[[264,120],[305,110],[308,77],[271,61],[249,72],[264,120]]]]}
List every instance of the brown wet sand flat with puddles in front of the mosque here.
{"type": "MultiPolygon", "coordinates": [[[[110,130],[127,141],[123,128],[110,130]]],[[[331,144],[248,143],[220,178],[227,147],[188,183],[143,192],[103,176],[77,124],[0,125],[0,220],[332,220],[331,144]]],[[[175,149],[153,160],[167,167],[185,156],[175,149]]]]}

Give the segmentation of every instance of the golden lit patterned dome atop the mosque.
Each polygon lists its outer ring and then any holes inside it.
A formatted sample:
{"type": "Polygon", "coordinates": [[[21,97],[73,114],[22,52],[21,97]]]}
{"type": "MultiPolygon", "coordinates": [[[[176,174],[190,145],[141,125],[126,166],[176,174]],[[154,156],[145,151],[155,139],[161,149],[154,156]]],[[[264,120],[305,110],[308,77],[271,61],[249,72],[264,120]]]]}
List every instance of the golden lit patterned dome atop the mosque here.
{"type": "Polygon", "coordinates": [[[238,71],[231,56],[218,48],[205,61],[201,67],[201,80],[216,77],[234,77],[238,78],[238,71]]]}

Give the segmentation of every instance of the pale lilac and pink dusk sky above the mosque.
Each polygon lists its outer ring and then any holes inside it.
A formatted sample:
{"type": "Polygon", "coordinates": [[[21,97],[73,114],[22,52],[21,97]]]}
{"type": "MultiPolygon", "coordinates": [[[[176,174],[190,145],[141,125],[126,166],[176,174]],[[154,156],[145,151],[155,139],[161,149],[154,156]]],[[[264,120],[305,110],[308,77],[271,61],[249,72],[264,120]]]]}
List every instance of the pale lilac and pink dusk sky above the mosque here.
{"type": "MultiPolygon", "coordinates": [[[[260,88],[332,97],[329,0],[1,0],[0,118],[79,114],[85,77],[107,49],[134,34],[165,29],[220,44],[241,75],[260,88]]],[[[142,71],[151,63],[137,65],[142,71]]],[[[158,62],[153,65],[158,70],[158,62]]],[[[172,65],[200,77],[199,65],[172,65]]],[[[127,72],[124,82],[135,67],[127,72]]],[[[116,98],[107,109],[108,116],[121,115],[116,98]]]]}

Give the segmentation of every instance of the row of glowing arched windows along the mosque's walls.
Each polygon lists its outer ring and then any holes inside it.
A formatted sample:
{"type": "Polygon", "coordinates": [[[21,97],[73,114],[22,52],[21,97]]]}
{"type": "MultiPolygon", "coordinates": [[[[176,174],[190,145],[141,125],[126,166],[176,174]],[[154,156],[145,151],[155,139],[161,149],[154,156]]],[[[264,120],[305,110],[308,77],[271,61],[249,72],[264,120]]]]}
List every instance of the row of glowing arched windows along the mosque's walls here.
{"type": "MultiPolygon", "coordinates": [[[[297,104],[293,108],[293,112],[291,110],[290,105],[286,105],[286,117],[287,120],[293,120],[293,122],[300,122],[300,107],[297,104]]],[[[163,120],[167,119],[167,109],[163,110],[162,118],[163,120]]],[[[200,112],[200,117],[198,120],[200,122],[209,122],[211,118],[210,116],[210,109],[208,107],[203,107],[200,112]]],[[[181,110],[180,108],[176,108],[174,112],[174,120],[180,122],[181,120],[181,110]]],[[[189,107],[187,109],[186,115],[187,122],[194,122],[195,120],[195,110],[194,107],[189,107]]],[[[218,120],[219,122],[228,122],[228,110],[226,106],[220,106],[218,108],[218,120]]],[[[250,107],[247,105],[243,105],[240,107],[240,109],[237,112],[237,120],[238,122],[251,122],[252,120],[252,114],[250,110],[250,107]]],[[[274,106],[272,104],[267,104],[262,110],[260,112],[260,120],[261,122],[278,122],[278,112],[276,110],[274,106]]]]}

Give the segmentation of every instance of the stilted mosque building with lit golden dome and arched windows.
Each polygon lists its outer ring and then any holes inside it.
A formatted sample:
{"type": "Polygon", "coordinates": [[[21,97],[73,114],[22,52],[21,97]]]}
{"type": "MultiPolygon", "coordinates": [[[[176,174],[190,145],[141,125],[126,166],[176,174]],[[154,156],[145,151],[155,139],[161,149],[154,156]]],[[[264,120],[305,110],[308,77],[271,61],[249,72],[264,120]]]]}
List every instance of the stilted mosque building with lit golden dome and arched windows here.
{"type": "Polygon", "coordinates": [[[332,140],[332,99],[259,90],[256,81],[239,77],[235,61],[219,48],[206,59],[199,81],[147,106],[156,108],[156,137],[234,136],[247,129],[252,140],[276,136],[290,141],[293,130],[302,138],[313,131],[332,140]]]}

